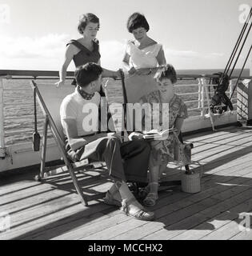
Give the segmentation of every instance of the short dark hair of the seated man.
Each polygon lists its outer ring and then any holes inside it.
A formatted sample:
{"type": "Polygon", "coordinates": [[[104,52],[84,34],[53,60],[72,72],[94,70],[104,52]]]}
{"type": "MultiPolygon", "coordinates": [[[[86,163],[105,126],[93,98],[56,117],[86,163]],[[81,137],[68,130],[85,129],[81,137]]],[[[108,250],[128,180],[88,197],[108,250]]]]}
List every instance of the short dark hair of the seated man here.
{"type": "Polygon", "coordinates": [[[78,86],[86,87],[97,80],[102,74],[102,67],[94,62],[88,62],[85,65],[78,66],[74,72],[74,76],[78,86]]]}

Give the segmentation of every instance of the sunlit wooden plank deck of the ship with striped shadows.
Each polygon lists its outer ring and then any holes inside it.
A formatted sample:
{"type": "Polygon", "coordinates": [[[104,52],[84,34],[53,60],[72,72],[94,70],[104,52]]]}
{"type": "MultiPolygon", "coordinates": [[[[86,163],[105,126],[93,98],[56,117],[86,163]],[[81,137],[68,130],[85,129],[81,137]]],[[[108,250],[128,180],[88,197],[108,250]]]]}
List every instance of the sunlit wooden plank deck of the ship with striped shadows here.
{"type": "MultiPolygon", "coordinates": [[[[79,202],[70,176],[34,181],[38,170],[0,180],[0,212],[10,214],[10,230],[0,239],[252,239],[240,230],[239,214],[252,212],[252,128],[226,127],[184,139],[194,142],[193,160],[203,167],[202,190],[184,193],[180,186],[159,192],[154,222],[142,222],[102,202],[111,185],[106,170],[78,174],[90,206],[79,202]],[[101,175],[100,175],[101,174],[101,175]]],[[[193,167],[200,170],[195,164],[193,167]]],[[[176,179],[179,168],[167,169],[176,179]]]]}

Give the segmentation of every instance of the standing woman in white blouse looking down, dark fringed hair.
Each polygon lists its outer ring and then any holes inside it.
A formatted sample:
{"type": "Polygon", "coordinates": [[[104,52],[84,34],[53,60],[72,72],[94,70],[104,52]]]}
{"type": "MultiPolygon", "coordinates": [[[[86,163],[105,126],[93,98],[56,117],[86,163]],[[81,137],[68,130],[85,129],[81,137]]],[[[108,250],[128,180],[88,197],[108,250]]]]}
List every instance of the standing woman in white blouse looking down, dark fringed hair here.
{"type": "Polygon", "coordinates": [[[144,15],[139,13],[130,15],[127,29],[135,40],[127,42],[126,53],[122,60],[124,70],[129,74],[150,74],[157,70],[157,66],[166,64],[162,45],[147,35],[150,26],[144,15]]]}

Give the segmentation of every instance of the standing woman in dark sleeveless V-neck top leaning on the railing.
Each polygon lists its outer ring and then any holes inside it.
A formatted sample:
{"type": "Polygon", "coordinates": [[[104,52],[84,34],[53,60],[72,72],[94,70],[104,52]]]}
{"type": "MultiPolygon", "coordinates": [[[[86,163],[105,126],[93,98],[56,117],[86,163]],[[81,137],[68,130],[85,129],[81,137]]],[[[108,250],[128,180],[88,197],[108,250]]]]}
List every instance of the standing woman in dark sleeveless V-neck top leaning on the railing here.
{"type": "MultiPolygon", "coordinates": [[[[99,42],[96,39],[99,27],[100,22],[96,15],[90,13],[82,15],[78,22],[78,32],[82,34],[82,38],[70,40],[66,45],[65,59],[59,71],[59,81],[55,83],[58,87],[64,85],[66,70],[72,60],[74,60],[75,67],[82,66],[87,62],[95,62],[100,65],[101,55],[99,42]]],[[[117,78],[120,75],[119,71],[102,70],[102,77],[117,78]]]]}

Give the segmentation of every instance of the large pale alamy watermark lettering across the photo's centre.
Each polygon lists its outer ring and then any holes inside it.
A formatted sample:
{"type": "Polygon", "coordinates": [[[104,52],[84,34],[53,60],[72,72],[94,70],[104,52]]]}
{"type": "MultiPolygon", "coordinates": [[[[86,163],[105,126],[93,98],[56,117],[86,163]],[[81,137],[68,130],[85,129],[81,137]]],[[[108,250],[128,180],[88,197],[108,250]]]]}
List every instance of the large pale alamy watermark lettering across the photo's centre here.
{"type": "Polygon", "coordinates": [[[98,127],[98,106],[92,102],[87,103],[82,108],[85,117],[82,120],[83,130],[97,132],[142,131],[142,130],[166,130],[169,129],[169,103],[127,103],[126,107],[122,103],[111,103],[108,117],[108,106],[106,98],[101,98],[101,126],[98,127]],[[160,113],[162,113],[160,115],[160,113]],[[126,127],[125,122],[126,120],[126,127]],[[114,127],[114,124],[121,126],[114,127]]]}

